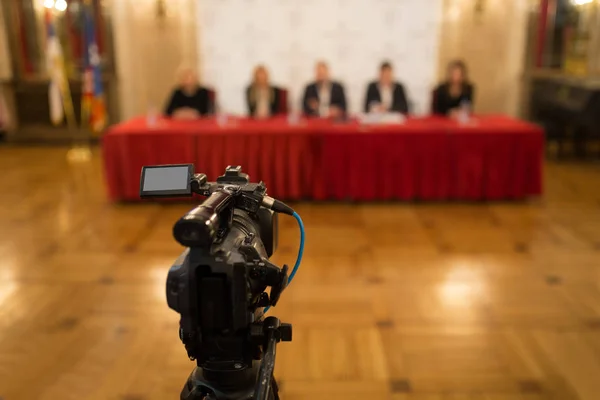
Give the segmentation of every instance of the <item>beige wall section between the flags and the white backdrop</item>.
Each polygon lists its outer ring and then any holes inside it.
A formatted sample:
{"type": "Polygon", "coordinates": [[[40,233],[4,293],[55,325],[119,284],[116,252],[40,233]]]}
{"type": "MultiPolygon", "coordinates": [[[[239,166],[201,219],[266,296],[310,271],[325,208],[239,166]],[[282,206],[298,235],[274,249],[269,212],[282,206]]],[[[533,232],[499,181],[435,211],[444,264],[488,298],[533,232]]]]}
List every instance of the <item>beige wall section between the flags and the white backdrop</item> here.
{"type": "Polygon", "coordinates": [[[196,1],[108,0],[113,18],[121,119],[162,109],[182,63],[195,66],[196,1]]]}

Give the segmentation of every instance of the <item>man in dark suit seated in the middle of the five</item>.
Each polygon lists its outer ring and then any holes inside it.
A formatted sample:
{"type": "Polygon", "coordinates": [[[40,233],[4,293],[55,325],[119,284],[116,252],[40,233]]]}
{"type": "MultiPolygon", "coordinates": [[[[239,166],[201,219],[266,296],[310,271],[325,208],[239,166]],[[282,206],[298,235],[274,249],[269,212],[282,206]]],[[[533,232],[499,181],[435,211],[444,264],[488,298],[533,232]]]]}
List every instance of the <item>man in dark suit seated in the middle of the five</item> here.
{"type": "Polygon", "coordinates": [[[315,67],[316,81],[304,90],[304,114],[321,118],[343,118],[346,115],[344,87],[329,78],[329,67],[319,61],[315,67]]]}

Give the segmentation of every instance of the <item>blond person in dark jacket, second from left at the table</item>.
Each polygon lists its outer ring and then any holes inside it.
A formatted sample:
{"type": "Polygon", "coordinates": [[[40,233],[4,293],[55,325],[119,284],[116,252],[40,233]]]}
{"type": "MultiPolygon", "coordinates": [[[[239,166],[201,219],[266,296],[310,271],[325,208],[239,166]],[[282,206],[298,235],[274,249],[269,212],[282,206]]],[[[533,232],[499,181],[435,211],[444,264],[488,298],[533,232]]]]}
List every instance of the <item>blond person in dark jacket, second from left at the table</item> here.
{"type": "Polygon", "coordinates": [[[269,72],[263,65],[254,69],[252,83],[246,89],[248,114],[264,119],[277,114],[279,108],[279,90],[269,84],[269,72]]]}

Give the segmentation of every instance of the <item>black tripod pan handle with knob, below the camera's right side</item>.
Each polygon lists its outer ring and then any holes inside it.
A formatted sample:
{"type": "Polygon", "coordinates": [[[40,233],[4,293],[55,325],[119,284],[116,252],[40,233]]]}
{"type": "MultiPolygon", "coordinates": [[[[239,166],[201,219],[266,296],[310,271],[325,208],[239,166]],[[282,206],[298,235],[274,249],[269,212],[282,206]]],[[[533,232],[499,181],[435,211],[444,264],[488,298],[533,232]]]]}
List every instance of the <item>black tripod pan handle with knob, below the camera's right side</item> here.
{"type": "Polygon", "coordinates": [[[273,372],[275,370],[276,346],[280,341],[290,342],[292,340],[292,325],[284,324],[276,317],[267,317],[265,320],[253,326],[251,331],[252,339],[262,341],[264,355],[258,372],[258,382],[254,389],[253,400],[268,400],[270,395],[278,398],[277,393],[270,393],[271,388],[277,390],[277,386],[272,386],[273,372]]]}

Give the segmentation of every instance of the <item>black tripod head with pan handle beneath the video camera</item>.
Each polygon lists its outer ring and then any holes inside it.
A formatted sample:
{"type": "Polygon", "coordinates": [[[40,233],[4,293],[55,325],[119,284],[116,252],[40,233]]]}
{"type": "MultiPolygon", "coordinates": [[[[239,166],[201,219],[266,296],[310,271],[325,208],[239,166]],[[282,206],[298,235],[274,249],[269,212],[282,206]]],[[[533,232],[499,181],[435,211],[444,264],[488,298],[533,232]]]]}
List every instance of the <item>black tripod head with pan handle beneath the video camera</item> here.
{"type": "Polygon", "coordinates": [[[252,366],[241,364],[233,370],[208,370],[197,367],[192,371],[181,400],[279,400],[279,388],[273,376],[276,346],[279,341],[292,340],[292,326],[282,324],[276,317],[266,318],[250,330],[253,341],[262,341],[264,356],[252,366]]]}

